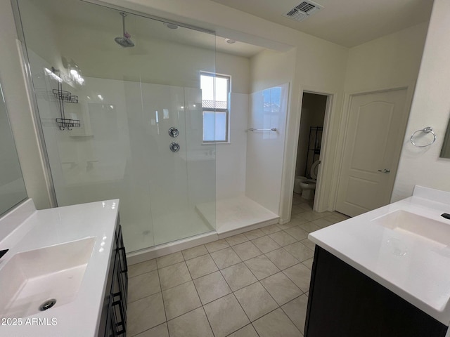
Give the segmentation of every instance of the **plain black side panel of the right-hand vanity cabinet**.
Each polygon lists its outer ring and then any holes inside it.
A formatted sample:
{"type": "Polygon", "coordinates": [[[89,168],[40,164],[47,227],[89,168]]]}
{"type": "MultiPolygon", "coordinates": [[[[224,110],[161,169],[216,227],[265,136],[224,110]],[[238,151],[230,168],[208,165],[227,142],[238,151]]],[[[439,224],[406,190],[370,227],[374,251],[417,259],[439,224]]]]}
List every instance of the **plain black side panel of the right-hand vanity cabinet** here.
{"type": "Polygon", "coordinates": [[[448,327],[316,246],[305,337],[444,337],[448,327]]]}

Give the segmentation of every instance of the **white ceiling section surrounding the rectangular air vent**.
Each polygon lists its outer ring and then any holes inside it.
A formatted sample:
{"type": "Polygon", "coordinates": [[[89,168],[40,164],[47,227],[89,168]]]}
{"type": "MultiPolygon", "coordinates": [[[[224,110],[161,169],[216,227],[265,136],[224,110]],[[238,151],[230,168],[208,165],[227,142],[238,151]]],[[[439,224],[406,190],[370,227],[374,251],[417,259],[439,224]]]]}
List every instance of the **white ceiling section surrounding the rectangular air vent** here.
{"type": "Polygon", "coordinates": [[[283,14],[302,0],[210,0],[335,44],[359,44],[430,19],[432,0],[316,0],[323,9],[302,22],[283,14]]]}

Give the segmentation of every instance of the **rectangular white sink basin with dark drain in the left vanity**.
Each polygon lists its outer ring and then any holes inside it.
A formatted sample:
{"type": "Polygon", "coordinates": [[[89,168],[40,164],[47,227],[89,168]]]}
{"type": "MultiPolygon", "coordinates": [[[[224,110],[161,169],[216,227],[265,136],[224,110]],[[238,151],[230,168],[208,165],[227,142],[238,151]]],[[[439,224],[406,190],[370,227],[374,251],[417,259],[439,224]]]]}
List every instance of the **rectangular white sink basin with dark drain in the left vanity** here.
{"type": "Polygon", "coordinates": [[[72,302],[95,241],[88,237],[15,254],[0,270],[0,317],[34,315],[50,299],[56,299],[53,308],[72,302]]]}

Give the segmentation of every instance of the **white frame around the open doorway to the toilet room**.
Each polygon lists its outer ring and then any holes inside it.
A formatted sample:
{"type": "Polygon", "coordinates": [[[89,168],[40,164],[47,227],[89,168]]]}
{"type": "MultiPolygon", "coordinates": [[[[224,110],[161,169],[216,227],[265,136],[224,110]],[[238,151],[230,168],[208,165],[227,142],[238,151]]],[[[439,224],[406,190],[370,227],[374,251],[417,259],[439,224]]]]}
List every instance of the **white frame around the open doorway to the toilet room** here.
{"type": "MultiPolygon", "coordinates": [[[[327,88],[317,88],[313,86],[302,86],[300,85],[299,90],[297,91],[297,114],[295,118],[295,122],[293,123],[295,126],[295,132],[288,134],[285,140],[285,151],[288,143],[294,143],[292,147],[292,154],[297,156],[298,150],[298,138],[300,136],[300,119],[302,114],[302,103],[303,103],[303,93],[314,93],[317,95],[325,95],[327,96],[326,102],[326,111],[325,117],[323,119],[323,133],[322,133],[322,147],[321,147],[321,155],[319,160],[321,161],[321,165],[319,166],[319,172],[317,175],[318,184],[316,186],[316,196],[314,197],[314,211],[323,212],[329,209],[329,200],[328,195],[330,195],[330,186],[333,180],[333,163],[328,163],[326,161],[326,157],[328,157],[328,152],[333,146],[331,141],[333,139],[331,133],[332,129],[332,119],[333,116],[336,115],[336,98],[338,97],[338,93],[327,89],[327,88]]],[[[292,117],[291,117],[292,118],[292,117]]],[[[293,204],[293,190],[295,183],[295,166],[297,164],[296,160],[292,160],[287,162],[286,160],[287,153],[285,152],[284,163],[283,163],[283,179],[281,184],[281,214],[280,214],[280,224],[288,223],[290,221],[292,204],[293,204]]]]}

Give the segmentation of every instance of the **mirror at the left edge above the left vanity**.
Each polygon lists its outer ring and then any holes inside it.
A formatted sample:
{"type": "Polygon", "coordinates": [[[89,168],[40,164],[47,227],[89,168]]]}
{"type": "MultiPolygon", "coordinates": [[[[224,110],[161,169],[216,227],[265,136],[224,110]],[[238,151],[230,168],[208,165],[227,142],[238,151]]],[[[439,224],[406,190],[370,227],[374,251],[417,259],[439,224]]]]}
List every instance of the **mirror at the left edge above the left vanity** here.
{"type": "Polygon", "coordinates": [[[0,85],[0,215],[26,198],[27,191],[0,85]]]}

